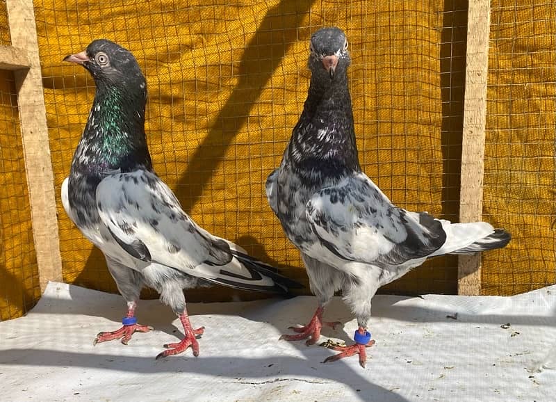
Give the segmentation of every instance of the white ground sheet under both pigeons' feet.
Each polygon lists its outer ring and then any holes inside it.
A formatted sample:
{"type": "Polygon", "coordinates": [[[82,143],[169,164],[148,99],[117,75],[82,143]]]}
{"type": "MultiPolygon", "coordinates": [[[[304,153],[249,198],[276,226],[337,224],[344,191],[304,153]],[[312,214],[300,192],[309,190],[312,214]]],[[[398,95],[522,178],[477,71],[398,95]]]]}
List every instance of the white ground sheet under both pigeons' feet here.
{"type": "MultiPolygon", "coordinates": [[[[556,370],[534,371],[550,366],[556,344],[556,286],[375,296],[366,369],[357,356],[322,364],[336,352],[278,341],[315,308],[310,296],[190,303],[193,327],[206,327],[199,357],[154,360],[181,339],[169,307],[141,300],[138,322],[154,331],[93,346],[97,332],[120,328],[123,298],[51,282],[31,312],[0,323],[0,401],[556,401],[556,370]]],[[[341,298],[325,319],[345,325],[323,329],[321,341],[352,342],[357,323],[341,298]]]]}

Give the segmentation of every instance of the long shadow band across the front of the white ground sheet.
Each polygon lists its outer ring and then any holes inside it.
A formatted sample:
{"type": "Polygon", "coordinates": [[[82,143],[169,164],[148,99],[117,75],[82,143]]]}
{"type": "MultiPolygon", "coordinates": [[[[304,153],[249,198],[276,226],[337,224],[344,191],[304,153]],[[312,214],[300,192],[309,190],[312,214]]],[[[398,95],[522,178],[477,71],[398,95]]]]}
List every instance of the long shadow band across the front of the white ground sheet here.
{"type": "MultiPolygon", "coordinates": [[[[82,369],[104,369],[115,373],[125,371],[138,374],[167,373],[172,378],[190,381],[192,377],[211,376],[218,384],[235,383],[242,387],[265,385],[269,383],[298,382],[314,384],[317,391],[319,385],[330,384],[337,389],[338,383],[345,383],[357,392],[360,401],[407,402],[404,397],[389,389],[368,382],[358,373],[346,374],[345,364],[336,362],[323,365],[311,364],[302,357],[269,356],[269,357],[183,357],[156,361],[149,357],[130,357],[112,354],[72,353],[41,349],[8,349],[2,352],[0,364],[17,361],[19,367],[79,367],[82,369]],[[318,367],[318,369],[317,369],[318,367]],[[322,367],[325,367],[323,369],[322,367]],[[318,370],[318,371],[316,371],[318,370]],[[318,373],[318,378],[307,378],[308,374],[318,373]],[[249,377],[248,379],[245,377],[249,377]],[[349,378],[349,379],[347,379],[349,378]]],[[[122,389],[123,385],[120,386],[122,389]]],[[[229,389],[229,387],[227,387],[229,389]]],[[[94,390],[92,391],[94,392],[94,390]]],[[[229,392],[229,391],[228,391],[229,392]]],[[[228,401],[233,395],[220,396],[219,400],[228,401]]],[[[265,399],[272,400],[272,399],[265,399]]],[[[352,399],[356,400],[356,399],[352,399]]]]}

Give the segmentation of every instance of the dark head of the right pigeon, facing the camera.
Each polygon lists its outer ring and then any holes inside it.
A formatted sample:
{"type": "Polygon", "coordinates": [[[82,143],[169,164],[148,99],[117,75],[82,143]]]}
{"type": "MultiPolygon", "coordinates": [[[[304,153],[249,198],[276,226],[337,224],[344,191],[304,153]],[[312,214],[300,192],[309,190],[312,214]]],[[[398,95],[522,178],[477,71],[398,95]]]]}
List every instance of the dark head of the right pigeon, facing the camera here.
{"type": "Polygon", "coordinates": [[[309,50],[309,68],[313,77],[329,81],[346,77],[351,58],[347,38],[341,29],[335,26],[319,29],[311,36],[309,50]]]}

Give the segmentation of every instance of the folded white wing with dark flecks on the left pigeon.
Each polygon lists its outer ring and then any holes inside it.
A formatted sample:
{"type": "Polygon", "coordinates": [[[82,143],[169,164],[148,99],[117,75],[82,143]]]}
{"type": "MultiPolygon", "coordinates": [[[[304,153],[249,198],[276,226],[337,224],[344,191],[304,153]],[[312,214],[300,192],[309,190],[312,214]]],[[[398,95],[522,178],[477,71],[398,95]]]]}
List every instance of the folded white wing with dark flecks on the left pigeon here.
{"type": "Polygon", "coordinates": [[[97,187],[97,209],[122,252],[136,259],[231,287],[276,288],[271,278],[259,274],[258,266],[244,261],[244,250],[237,252],[233,243],[195,224],[152,172],[136,170],[103,179],[97,187]],[[240,254],[239,259],[234,254],[240,254]]]}

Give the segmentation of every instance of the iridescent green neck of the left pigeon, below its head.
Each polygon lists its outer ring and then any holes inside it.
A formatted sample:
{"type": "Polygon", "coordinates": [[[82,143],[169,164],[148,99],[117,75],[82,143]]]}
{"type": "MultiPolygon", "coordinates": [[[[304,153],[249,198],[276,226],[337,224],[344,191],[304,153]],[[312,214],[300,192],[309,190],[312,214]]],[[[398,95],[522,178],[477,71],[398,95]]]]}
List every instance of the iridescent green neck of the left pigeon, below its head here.
{"type": "MultiPolygon", "coordinates": [[[[144,84],[143,84],[144,86],[144,84]]],[[[145,88],[135,93],[97,83],[95,101],[74,155],[72,170],[102,175],[151,169],[145,138],[145,88]]]]}

